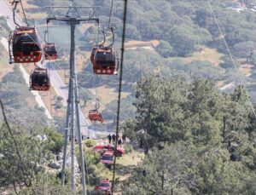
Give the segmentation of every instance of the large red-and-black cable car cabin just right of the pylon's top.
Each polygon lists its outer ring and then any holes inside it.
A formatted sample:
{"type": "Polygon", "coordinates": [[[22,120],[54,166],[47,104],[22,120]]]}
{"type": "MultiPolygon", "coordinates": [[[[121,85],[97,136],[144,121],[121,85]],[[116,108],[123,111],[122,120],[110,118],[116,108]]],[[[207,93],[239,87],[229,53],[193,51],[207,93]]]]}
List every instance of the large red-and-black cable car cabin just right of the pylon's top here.
{"type": "Polygon", "coordinates": [[[98,48],[92,64],[96,74],[117,74],[119,60],[113,48],[98,48]]]}

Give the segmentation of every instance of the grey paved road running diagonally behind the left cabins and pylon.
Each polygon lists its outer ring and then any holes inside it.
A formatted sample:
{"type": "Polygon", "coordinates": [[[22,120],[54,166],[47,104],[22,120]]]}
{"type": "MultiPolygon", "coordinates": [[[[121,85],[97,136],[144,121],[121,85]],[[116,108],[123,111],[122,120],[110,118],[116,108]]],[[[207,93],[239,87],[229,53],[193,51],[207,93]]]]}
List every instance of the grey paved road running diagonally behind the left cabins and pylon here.
{"type": "MultiPolygon", "coordinates": [[[[3,16],[10,17],[10,19],[7,19],[8,20],[7,23],[9,25],[9,27],[12,30],[14,30],[15,23],[13,20],[12,10],[9,8],[9,5],[7,5],[7,3],[4,0],[0,0],[0,14],[2,14],[3,16]]],[[[21,20],[19,20],[19,19],[16,19],[16,20],[17,20],[17,23],[22,24],[21,20]]],[[[39,64],[39,66],[45,66],[45,63],[46,62],[43,63],[44,65],[39,64]]],[[[50,82],[54,86],[56,93],[63,98],[64,104],[67,105],[66,102],[67,102],[68,91],[65,86],[65,83],[63,83],[63,81],[61,80],[61,77],[54,70],[54,68],[50,69],[49,73],[50,73],[50,82]]],[[[89,122],[86,120],[86,118],[84,117],[84,114],[80,111],[80,109],[79,109],[79,117],[80,117],[80,125],[81,125],[82,134],[89,135],[91,138],[96,138],[95,130],[88,129],[89,122]]]]}

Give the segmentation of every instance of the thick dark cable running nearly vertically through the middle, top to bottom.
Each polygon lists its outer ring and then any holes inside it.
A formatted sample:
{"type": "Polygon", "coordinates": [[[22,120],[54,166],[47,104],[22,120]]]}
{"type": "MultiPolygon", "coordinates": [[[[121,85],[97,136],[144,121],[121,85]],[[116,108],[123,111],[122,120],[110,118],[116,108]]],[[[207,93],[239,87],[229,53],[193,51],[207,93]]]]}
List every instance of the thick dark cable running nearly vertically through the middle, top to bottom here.
{"type": "MultiPolygon", "coordinates": [[[[123,17],[123,34],[122,34],[122,47],[121,47],[121,61],[120,61],[120,76],[119,76],[119,97],[118,97],[118,109],[117,109],[117,121],[115,136],[119,135],[119,116],[120,116],[120,105],[121,105],[121,93],[122,93],[122,79],[123,79],[123,64],[124,64],[124,53],[125,53],[125,28],[126,28],[126,14],[127,14],[127,0],[124,5],[124,17],[123,17]]],[[[114,143],[114,154],[117,154],[118,139],[114,143]]],[[[112,194],[115,181],[115,169],[116,169],[116,155],[113,158],[113,180],[112,180],[112,194]]]]}

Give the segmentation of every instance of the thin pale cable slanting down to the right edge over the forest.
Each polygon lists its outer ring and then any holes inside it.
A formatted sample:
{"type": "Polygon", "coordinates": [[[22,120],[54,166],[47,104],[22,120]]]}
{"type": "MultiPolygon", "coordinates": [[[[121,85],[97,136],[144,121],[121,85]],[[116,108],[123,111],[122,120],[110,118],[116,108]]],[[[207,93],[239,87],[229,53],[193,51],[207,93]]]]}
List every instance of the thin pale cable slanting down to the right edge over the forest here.
{"type": "Polygon", "coordinates": [[[255,109],[254,109],[254,107],[253,107],[253,103],[252,103],[252,101],[250,100],[250,96],[248,95],[248,92],[247,92],[247,89],[246,89],[246,87],[245,87],[245,84],[244,84],[243,81],[242,81],[240,72],[239,72],[239,70],[238,70],[238,67],[236,66],[236,62],[235,62],[235,60],[234,60],[234,58],[233,58],[233,56],[232,56],[232,54],[231,54],[230,47],[229,47],[229,45],[228,45],[228,43],[227,43],[227,41],[226,41],[226,39],[225,39],[225,37],[224,37],[224,33],[223,33],[223,31],[221,30],[221,27],[220,27],[220,25],[219,25],[219,23],[218,23],[218,20],[217,20],[217,18],[216,18],[216,14],[214,13],[214,11],[213,11],[213,9],[212,9],[212,4],[210,3],[209,0],[207,0],[207,3],[208,3],[208,5],[209,5],[209,7],[210,7],[210,9],[211,9],[213,19],[214,19],[214,21],[216,22],[216,24],[217,24],[217,26],[218,26],[218,31],[220,32],[221,36],[223,37],[225,47],[226,47],[226,49],[228,50],[228,53],[229,53],[229,55],[230,55],[230,60],[232,61],[232,64],[233,64],[233,66],[234,66],[235,69],[236,69],[236,73],[237,73],[238,78],[239,78],[239,80],[240,80],[241,87],[242,87],[242,89],[244,90],[244,92],[245,92],[245,94],[246,94],[246,96],[247,96],[248,103],[249,103],[249,105],[250,105],[251,108],[252,108],[254,117],[256,118],[256,112],[255,112],[255,109]]]}

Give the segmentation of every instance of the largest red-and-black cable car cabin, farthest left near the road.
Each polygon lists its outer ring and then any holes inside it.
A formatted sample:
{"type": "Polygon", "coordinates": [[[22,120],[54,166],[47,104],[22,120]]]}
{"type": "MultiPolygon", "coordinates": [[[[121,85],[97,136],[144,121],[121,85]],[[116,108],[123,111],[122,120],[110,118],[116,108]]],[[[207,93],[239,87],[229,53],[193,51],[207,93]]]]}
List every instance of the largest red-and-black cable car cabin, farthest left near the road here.
{"type": "Polygon", "coordinates": [[[16,63],[38,62],[42,57],[41,43],[35,27],[21,26],[9,38],[9,52],[16,63]],[[12,52],[12,54],[11,54],[12,52]]]}

